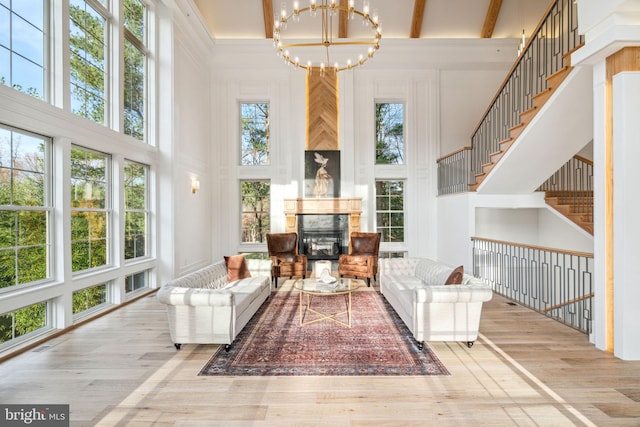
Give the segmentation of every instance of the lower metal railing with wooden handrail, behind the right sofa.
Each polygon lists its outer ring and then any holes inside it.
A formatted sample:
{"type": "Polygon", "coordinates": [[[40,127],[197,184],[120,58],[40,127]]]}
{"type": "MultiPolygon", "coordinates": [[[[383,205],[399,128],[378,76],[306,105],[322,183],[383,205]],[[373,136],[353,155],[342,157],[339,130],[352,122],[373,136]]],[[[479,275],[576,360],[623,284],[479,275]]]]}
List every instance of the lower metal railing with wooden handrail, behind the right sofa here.
{"type": "Polygon", "coordinates": [[[493,291],[591,333],[593,254],[472,237],[473,275],[493,291]]]}

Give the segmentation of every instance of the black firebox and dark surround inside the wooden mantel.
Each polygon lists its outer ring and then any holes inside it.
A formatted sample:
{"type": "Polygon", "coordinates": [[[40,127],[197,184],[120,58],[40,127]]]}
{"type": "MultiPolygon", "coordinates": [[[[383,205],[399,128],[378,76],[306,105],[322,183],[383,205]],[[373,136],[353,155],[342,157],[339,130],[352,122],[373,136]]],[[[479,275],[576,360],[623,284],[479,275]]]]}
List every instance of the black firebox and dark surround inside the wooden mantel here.
{"type": "Polygon", "coordinates": [[[298,215],[298,250],[310,260],[338,259],[349,247],[349,215],[298,215]]]}

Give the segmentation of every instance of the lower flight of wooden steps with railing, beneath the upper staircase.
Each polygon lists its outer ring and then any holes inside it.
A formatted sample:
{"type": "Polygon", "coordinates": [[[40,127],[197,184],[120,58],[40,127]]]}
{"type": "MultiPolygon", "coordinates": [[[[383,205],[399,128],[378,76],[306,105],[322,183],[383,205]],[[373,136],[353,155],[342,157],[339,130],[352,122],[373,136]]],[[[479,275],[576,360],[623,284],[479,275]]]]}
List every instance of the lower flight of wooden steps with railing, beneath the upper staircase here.
{"type": "Polygon", "coordinates": [[[562,204],[573,206],[586,222],[593,222],[593,162],[574,156],[546,180],[538,191],[548,197],[561,198],[562,204]]]}

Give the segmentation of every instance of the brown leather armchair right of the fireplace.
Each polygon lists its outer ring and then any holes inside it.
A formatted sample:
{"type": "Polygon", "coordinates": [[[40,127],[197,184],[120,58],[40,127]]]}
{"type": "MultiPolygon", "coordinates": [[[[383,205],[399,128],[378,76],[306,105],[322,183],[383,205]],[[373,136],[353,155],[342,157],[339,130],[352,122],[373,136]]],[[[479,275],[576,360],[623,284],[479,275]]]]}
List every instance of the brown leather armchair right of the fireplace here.
{"type": "Polygon", "coordinates": [[[371,278],[378,274],[378,253],[380,251],[380,233],[360,233],[354,231],[349,239],[349,255],[340,255],[338,272],[340,277],[353,276],[371,278]]]}

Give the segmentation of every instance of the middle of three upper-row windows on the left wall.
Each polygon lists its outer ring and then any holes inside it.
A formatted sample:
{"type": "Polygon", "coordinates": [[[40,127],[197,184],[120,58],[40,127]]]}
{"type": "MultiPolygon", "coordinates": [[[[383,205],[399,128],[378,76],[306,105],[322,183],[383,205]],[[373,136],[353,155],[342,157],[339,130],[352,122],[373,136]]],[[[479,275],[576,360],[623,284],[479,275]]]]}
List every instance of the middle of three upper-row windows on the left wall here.
{"type": "Polygon", "coordinates": [[[106,123],[107,10],[90,0],[69,0],[71,111],[106,123]]]}

